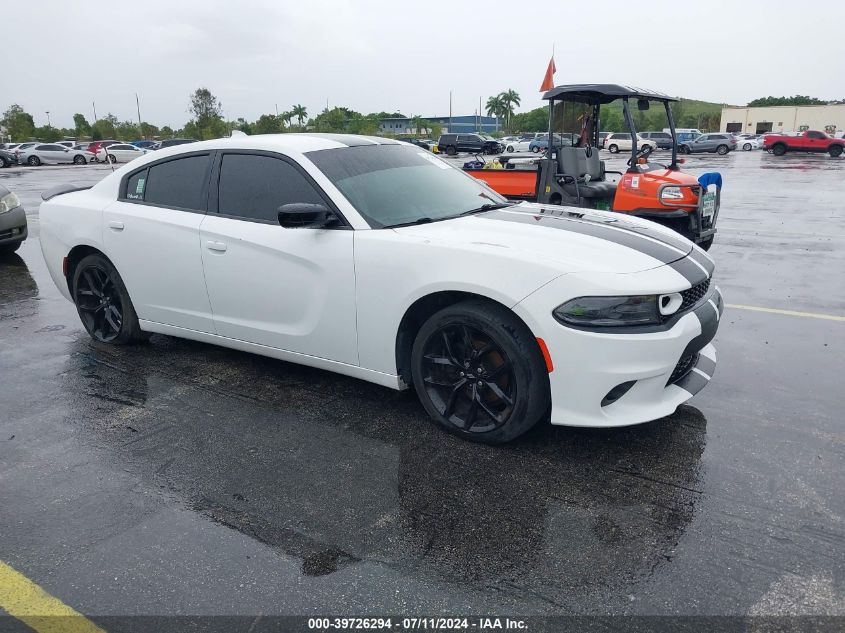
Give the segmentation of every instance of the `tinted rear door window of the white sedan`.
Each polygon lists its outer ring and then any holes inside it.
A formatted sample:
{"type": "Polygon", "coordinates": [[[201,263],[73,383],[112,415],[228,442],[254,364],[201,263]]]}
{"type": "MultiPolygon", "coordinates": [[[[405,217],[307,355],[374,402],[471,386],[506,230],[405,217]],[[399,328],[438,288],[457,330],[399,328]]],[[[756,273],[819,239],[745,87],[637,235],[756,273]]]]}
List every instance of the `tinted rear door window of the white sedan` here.
{"type": "MultiPolygon", "coordinates": [[[[144,202],[204,211],[210,160],[208,156],[186,156],[153,165],[142,186],[144,202]]],[[[135,189],[127,189],[127,197],[132,191],[137,195],[137,188],[136,182],[135,189]]]]}

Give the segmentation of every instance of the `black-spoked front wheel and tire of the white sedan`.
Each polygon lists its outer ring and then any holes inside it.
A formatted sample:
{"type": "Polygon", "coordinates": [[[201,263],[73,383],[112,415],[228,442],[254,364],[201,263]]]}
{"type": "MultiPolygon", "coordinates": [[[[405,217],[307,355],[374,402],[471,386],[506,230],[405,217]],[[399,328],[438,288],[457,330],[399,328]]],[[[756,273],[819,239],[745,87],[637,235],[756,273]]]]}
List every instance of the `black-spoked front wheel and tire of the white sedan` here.
{"type": "Polygon", "coordinates": [[[509,442],[549,410],[536,340],[516,315],[490,302],[462,301],[430,317],[414,341],[411,365],[425,410],[467,440],[509,442]]]}

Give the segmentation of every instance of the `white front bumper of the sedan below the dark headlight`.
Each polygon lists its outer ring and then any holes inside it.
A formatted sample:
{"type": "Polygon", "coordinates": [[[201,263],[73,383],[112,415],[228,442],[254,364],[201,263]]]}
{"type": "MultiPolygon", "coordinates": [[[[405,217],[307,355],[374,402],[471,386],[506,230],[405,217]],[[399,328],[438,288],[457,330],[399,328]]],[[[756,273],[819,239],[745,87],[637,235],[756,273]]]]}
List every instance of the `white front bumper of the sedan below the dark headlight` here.
{"type": "Polygon", "coordinates": [[[617,427],[656,420],[671,415],[713,377],[711,341],[724,311],[715,286],[670,328],[635,334],[563,326],[551,316],[554,306],[550,309],[543,295],[535,293],[518,307],[548,315],[532,331],[543,338],[554,365],[549,374],[552,424],[617,427]],[[606,400],[615,387],[630,382],[624,395],[606,400]]]}

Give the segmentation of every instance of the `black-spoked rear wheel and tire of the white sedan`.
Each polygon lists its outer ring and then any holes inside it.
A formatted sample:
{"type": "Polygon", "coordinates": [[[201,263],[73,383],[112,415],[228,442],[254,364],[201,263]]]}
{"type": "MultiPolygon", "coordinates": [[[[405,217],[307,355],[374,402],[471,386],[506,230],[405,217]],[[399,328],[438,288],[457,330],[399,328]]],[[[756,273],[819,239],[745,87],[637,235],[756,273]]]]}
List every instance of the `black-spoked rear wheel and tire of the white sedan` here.
{"type": "Polygon", "coordinates": [[[146,338],[135,307],[114,265],[102,255],[83,258],[73,271],[73,302],[88,334],[112,345],[146,338]]]}

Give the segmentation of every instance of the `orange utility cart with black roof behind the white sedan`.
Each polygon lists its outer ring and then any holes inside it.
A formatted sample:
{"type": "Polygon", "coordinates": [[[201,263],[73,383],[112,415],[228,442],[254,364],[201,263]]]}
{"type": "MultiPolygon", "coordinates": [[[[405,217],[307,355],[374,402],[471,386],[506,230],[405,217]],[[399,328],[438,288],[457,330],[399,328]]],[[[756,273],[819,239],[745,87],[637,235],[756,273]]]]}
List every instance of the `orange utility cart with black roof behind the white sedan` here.
{"type": "MultiPolygon", "coordinates": [[[[721,176],[696,178],[678,167],[677,136],[670,102],[657,92],[615,84],[558,86],[546,92],[549,138],[580,127],[574,146],[555,146],[542,157],[503,156],[504,169],[465,168],[498,193],[513,200],[606,209],[646,217],[671,227],[707,250],[716,233],[721,176]],[[601,106],[622,100],[622,114],[631,134],[631,157],[623,172],[607,171],[599,158],[601,106]],[[648,110],[662,104],[672,134],[668,165],[649,160],[652,148],[637,147],[632,107],[648,110]],[[567,110],[568,109],[568,110],[567,110]],[[563,129],[563,128],[570,129],[563,129]],[[708,185],[715,185],[708,191],[708,185]]],[[[578,131],[575,130],[576,135],[578,131]]]]}

